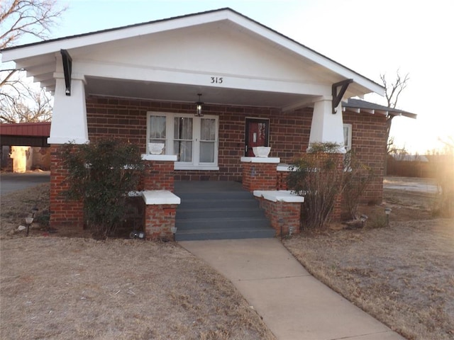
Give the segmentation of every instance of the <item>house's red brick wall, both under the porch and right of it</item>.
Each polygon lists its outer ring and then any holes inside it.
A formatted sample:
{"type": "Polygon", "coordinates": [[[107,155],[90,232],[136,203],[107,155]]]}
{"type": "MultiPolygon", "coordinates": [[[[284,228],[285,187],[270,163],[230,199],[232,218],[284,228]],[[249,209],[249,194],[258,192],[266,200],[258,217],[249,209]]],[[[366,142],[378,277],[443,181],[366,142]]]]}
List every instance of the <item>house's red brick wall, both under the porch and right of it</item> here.
{"type": "MultiPolygon", "coordinates": [[[[87,99],[89,139],[120,137],[138,143],[145,152],[147,111],[193,113],[194,105],[159,103],[119,98],[87,99]]],[[[276,108],[241,108],[237,106],[204,106],[207,115],[219,116],[219,171],[175,171],[175,180],[241,181],[240,157],[244,156],[245,118],[270,119],[270,157],[289,163],[306,152],[311,130],[312,108],[281,113],[276,108]]],[[[352,148],[365,164],[375,169],[377,178],[367,189],[365,201],[382,200],[385,118],[382,115],[343,113],[344,123],[353,125],[352,148]]]]}

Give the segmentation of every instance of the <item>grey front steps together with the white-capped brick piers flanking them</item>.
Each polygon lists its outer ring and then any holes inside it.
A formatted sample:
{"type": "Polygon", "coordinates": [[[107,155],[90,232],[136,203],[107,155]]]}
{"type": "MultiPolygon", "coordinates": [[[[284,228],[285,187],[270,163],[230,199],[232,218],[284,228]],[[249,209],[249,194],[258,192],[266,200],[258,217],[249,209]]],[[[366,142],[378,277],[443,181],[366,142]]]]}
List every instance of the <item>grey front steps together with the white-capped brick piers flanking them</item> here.
{"type": "MultiPolygon", "coordinates": [[[[172,161],[161,155],[146,159],[150,171],[171,168],[172,161]]],[[[175,181],[170,171],[153,177],[145,174],[140,194],[145,202],[146,237],[239,239],[299,232],[304,198],[279,187],[288,166],[267,157],[242,157],[241,162],[242,183],[175,181]]]]}

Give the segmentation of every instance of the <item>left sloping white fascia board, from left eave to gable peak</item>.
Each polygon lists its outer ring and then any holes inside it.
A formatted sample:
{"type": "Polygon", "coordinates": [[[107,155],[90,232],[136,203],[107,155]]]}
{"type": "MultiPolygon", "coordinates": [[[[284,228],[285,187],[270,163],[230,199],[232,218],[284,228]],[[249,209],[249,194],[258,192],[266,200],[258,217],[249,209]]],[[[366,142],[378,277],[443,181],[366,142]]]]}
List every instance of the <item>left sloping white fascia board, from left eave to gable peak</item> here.
{"type": "Polygon", "coordinates": [[[189,26],[196,26],[214,21],[226,20],[226,11],[205,13],[202,16],[183,16],[181,18],[172,18],[155,23],[138,24],[126,28],[118,28],[113,30],[101,31],[99,33],[88,33],[87,35],[79,35],[57,40],[50,40],[35,45],[24,45],[12,50],[2,52],[4,62],[20,60],[37,55],[47,55],[49,53],[58,52],[60,50],[70,50],[77,47],[85,47],[96,45],[103,42],[121,40],[127,38],[138,37],[140,35],[148,35],[159,33],[166,30],[175,30],[189,26]],[[203,18],[203,20],[201,20],[203,18]]]}

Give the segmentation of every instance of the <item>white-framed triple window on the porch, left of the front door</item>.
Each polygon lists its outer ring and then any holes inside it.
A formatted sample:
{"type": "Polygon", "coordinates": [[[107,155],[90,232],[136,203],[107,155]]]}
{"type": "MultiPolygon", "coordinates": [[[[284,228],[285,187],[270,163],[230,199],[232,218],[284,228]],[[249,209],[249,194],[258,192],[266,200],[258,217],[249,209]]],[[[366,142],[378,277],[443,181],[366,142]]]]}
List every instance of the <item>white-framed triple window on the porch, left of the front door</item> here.
{"type": "Polygon", "coordinates": [[[219,169],[218,116],[148,113],[147,125],[148,143],[164,143],[165,154],[177,155],[175,169],[219,169]]]}

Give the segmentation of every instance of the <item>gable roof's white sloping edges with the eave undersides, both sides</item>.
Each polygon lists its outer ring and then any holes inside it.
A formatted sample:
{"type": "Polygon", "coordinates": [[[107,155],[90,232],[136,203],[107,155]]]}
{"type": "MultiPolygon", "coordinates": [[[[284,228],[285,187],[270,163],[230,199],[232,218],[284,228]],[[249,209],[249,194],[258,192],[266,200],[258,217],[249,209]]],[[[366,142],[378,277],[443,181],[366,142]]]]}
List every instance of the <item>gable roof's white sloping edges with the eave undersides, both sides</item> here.
{"type": "Polygon", "coordinates": [[[27,70],[29,77],[40,81],[41,86],[50,91],[55,90],[55,55],[60,50],[72,50],[90,48],[107,42],[118,42],[129,38],[143,37],[155,33],[187,30],[194,27],[206,26],[213,28],[224,26],[229,30],[237,30],[243,35],[249,35],[255,40],[266,42],[282,50],[287,55],[296,55],[301,62],[317,67],[317,72],[330,74],[333,81],[353,79],[346,96],[362,96],[370,92],[383,94],[384,89],[380,84],[367,79],[348,67],[311,50],[309,47],[278,33],[267,26],[254,21],[243,14],[233,11],[231,8],[221,8],[201,13],[193,13],[185,16],[176,16],[147,23],[139,23],[131,26],[99,30],[92,33],[72,35],[65,38],[35,42],[27,45],[9,47],[1,50],[4,61],[15,61],[16,68],[27,70]],[[211,25],[211,26],[210,26],[211,25]],[[315,65],[315,66],[314,66],[315,65]]]}

